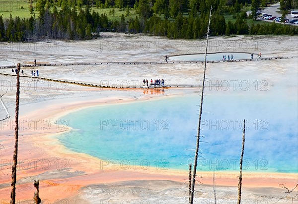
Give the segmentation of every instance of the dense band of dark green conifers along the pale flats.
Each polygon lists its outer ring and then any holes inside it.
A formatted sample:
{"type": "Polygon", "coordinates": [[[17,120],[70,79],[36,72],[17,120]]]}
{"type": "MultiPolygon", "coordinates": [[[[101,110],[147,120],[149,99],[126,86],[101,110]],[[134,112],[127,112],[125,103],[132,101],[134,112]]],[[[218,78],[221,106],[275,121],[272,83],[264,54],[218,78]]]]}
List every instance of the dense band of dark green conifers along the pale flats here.
{"type": "MultiPolygon", "coordinates": [[[[77,6],[64,6],[58,11],[57,7],[51,9],[49,1],[40,8],[39,16],[3,20],[0,16],[0,40],[9,42],[21,42],[40,39],[62,39],[62,40],[89,40],[99,36],[100,32],[128,32],[149,33],[156,36],[168,38],[200,39],[206,36],[208,13],[201,12],[200,15],[183,15],[179,12],[175,19],[161,18],[156,13],[146,13],[139,1],[139,12],[142,14],[125,17],[120,20],[111,20],[105,13],[99,14],[87,5],[85,8],[77,9],[77,6]]],[[[208,2],[208,1],[206,1],[208,2]]],[[[220,1],[219,1],[220,2],[220,1]]],[[[237,0],[235,1],[237,6],[237,0]]],[[[200,4],[202,6],[202,4],[200,4]]],[[[201,8],[202,9],[202,8],[201,8]]],[[[235,21],[226,22],[223,11],[216,9],[211,20],[211,36],[229,35],[297,35],[298,28],[280,23],[248,25],[246,13],[238,12],[234,15],[235,21]]]]}

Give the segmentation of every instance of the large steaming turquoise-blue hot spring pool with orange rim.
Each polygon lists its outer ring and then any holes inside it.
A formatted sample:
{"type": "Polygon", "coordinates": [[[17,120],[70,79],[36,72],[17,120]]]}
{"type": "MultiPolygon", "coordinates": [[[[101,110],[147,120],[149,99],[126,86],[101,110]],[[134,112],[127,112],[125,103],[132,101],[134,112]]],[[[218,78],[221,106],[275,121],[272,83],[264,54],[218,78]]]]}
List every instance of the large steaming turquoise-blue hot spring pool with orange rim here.
{"type": "MultiPolygon", "coordinates": [[[[86,108],[60,118],[73,130],[59,140],[118,168],[187,170],[193,163],[199,100],[185,95],[86,108]]],[[[239,169],[245,118],[244,170],[298,171],[297,99],[211,95],[204,100],[204,110],[213,114],[203,112],[200,170],[239,169]]]]}

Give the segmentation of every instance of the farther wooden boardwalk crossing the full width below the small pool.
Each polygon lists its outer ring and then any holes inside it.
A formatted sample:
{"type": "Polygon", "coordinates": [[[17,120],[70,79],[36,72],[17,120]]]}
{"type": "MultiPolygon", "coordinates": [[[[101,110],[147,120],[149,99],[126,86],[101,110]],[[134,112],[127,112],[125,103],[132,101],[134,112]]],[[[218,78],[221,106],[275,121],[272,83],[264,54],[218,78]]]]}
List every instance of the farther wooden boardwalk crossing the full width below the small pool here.
{"type": "MultiPolygon", "coordinates": [[[[210,60],[207,63],[220,63],[220,62],[240,62],[240,61],[257,61],[257,60],[273,60],[273,59],[292,59],[298,56],[283,56],[283,57],[265,57],[254,59],[235,59],[235,60],[210,60]]],[[[42,63],[42,64],[21,64],[21,67],[39,67],[39,66],[73,66],[73,65],[135,65],[135,64],[204,64],[204,61],[150,61],[150,62],[83,62],[83,63],[42,63]]],[[[0,69],[15,68],[13,66],[0,66],[0,69]]]]}

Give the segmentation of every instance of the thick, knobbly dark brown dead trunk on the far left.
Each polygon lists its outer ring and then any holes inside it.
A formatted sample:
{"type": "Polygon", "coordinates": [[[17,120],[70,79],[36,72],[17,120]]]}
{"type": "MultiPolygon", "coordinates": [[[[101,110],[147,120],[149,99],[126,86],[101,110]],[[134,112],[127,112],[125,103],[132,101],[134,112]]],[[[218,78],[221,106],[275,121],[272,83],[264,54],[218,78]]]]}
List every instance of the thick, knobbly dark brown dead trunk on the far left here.
{"type": "Polygon", "coordinates": [[[18,110],[20,99],[20,70],[21,64],[17,64],[16,75],[16,98],[15,98],[15,128],[14,128],[14,151],[13,151],[13,165],[11,170],[11,193],[10,204],[15,204],[15,183],[16,183],[16,165],[17,165],[17,143],[18,143],[18,110]]]}

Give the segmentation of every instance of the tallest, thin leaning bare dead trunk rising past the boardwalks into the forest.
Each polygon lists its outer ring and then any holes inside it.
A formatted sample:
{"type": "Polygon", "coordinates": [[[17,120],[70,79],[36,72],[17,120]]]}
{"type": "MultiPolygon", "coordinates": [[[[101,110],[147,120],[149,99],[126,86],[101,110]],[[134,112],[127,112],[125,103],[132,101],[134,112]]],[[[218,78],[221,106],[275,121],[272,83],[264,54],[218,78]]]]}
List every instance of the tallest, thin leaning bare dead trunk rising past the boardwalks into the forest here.
{"type": "Polygon", "coordinates": [[[200,113],[199,113],[199,121],[198,121],[198,132],[197,132],[197,146],[196,146],[196,153],[195,153],[194,171],[193,171],[193,175],[192,175],[192,183],[191,183],[191,192],[190,192],[189,204],[193,204],[193,201],[194,201],[195,182],[196,182],[197,163],[198,163],[198,153],[199,153],[199,144],[200,144],[200,136],[201,136],[200,135],[200,129],[201,129],[201,117],[202,117],[202,107],[203,107],[205,76],[206,76],[206,61],[207,61],[208,36],[209,36],[209,28],[210,28],[210,21],[211,21],[211,11],[212,11],[212,5],[211,5],[211,8],[210,8],[209,23],[208,23],[208,30],[207,30],[204,77],[203,77],[200,113]]]}

